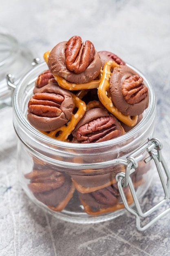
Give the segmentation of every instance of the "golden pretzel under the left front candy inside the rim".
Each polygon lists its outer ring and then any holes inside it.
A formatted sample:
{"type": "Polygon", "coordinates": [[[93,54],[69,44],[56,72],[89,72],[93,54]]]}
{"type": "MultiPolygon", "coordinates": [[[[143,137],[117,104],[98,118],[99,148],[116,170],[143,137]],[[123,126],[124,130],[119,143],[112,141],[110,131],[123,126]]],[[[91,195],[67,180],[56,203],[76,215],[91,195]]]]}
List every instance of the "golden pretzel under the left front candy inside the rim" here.
{"type": "Polygon", "coordinates": [[[72,95],[73,100],[75,103],[75,107],[78,108],[77,112],[72,115],[70,121],[68,121],[67,126],[64,125],[60,128],[57,128],[56,130],[53,130],[51,132],[43,132],[43,134],[53,138],[53,139],[58,139],[60,141],[67,141],[68,136],[71,134],[71,132],[74,130],[75,126],[78,124],[79,120],[82,119],[84,116],[84,113],[86,112],[86,104],[84,101],[76,97],[75,94],[72,95]],[[56,134],[59,134],[56,137],[56,134]]]}

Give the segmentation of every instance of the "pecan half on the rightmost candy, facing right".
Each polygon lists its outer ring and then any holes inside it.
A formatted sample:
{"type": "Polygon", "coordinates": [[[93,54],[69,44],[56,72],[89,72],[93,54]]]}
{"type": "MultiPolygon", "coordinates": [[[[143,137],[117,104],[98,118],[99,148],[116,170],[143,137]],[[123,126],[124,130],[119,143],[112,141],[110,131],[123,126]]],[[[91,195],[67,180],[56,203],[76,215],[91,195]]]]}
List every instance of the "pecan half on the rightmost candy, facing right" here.
{"type": "Polygon", "coordinates": [[[148,88],[139,75],[132,75],[122,83],[122,94],[129,104],[139,103],[148,95],[148,88]]]}

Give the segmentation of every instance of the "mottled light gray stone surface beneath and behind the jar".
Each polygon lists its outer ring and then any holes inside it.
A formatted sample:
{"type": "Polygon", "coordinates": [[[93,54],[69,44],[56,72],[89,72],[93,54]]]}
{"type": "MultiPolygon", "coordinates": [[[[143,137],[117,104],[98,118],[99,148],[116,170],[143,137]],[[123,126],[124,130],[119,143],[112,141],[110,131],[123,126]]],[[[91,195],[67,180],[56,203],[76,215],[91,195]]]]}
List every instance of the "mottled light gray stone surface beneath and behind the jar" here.
{"type": "MultiPolygon", "coordinates": [[[[155,136],[170,165],[170,1],[169,0],[2,0],[0,30],[8,31],[35,57],[79,35],[97,50],[108,50],[137,67],[157,94],[155,136]]],[[[22,191],[16,167],[17,138],[12,109],[0,112],[1,256],[166,256],[170,255],[170,214],[144,232],[125,213],[99,224],[58,220],[22,191]]],[[[154,173],[141,200],[145,208],[162,195],[154,173]]]]}

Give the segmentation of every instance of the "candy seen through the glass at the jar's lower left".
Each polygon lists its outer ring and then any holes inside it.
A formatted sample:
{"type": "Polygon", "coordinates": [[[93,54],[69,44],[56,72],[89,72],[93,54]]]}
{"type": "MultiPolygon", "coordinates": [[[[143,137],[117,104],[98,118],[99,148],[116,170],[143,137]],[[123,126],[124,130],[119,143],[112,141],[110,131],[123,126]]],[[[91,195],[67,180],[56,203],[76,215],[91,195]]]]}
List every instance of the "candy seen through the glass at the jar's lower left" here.
{"type": "Polygon", "coordinates": [[[40,162],[37,168],[25,174],[30,180],[28,188],[35,198],[53,211],[62,211],[73,197],[75,186],[69,175],[57,172],[40,162]]]}

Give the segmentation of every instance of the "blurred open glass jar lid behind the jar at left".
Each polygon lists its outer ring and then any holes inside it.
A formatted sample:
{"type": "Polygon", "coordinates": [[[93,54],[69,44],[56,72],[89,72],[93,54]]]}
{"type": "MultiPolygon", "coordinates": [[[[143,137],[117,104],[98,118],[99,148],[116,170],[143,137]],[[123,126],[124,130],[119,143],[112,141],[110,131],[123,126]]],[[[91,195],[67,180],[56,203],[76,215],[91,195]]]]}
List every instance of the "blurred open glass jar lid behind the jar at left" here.
{"type": "Polygon", "coordinates": [[[0,110],[11,106],[13,91],[7,84],[7,74],[12,74],[17,84],[21,76],[31,69],[32,61],[30,49],[10,34],[0,33],[0,110]]]}

